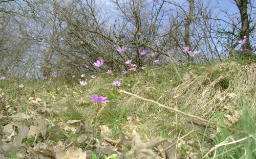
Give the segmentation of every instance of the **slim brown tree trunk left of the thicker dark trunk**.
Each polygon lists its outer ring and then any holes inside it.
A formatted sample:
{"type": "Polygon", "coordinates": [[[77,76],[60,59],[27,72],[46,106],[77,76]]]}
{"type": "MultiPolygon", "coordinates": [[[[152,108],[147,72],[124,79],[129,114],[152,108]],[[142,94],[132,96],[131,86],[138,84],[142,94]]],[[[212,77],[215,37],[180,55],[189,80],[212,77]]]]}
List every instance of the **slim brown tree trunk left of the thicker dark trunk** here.
{"type": "MultiPolygon", "coordinates": [[[[194,0],[189,1],[189,15],[186,17],[186,23],[185,23],[185,45],[188,46],[189,48],[191,47],[190,45],[190,36],[189,36],[189,25],[191,23],[191,20],[193,20],[194,16],[194,0]]],[[[191,49],[191,48],[190,48],[191,49]]],[[[187,53],[188,56],[188,61],[193,62],[194,58],[190,57],[187,53]]]]}

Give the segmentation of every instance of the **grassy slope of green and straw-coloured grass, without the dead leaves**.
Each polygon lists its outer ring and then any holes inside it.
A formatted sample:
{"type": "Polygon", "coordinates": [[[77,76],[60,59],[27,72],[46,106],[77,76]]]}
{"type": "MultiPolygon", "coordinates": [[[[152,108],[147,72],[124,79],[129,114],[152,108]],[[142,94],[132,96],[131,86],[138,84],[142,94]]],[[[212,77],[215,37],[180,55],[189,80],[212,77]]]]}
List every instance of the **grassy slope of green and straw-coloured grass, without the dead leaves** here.
{"type": "MultiPolygon", "coordinates": [[[[208,120],[224,122],[238,130],[234,133],[224,128],[217,128],[218,131],[198,129],[197,133],[190,135],[186,140],[190,143],[200,143],[203,147],[200,155],[208,151],[204,150],[206,142],[218,144],[250,135],[255,137],[255,64],[245,65],[228,61],[176,68],[179,74],[174,71],[172,65],[147,68],[142,72],[127,75],[104,73],[94,80],[89,80],[89,84],[85,87],[79,85],[78,79],[70,81],[70,78],[48,82],[20,82],[25,87],[19,91],[15,81],[4,82],[3,87],[13,104],[19,103],[17,98],[20,99],[19,108],[24,112],[33,109],[27,99],[32,90],[35,90],[36,97],[45,101],[47,107],[58,112],[59,116],[54,117],[54,122],[82,119],[92,123],[96,104],[92,102],[90,96],[94,94],[107,96],[111,102],[100,113],[98,122],[109,126],[114,132],[112,135],[115,139],[121,132],[131,130],[131,127],[127,126],[127,117],[131,116],[139,117],[137,131],[141,135],[147,134],[148,138],[162,136],[172,140],[179,133],[181,136],[185,135],[193,128],[193,125],[189,124],[191,119],[122,95],[118,89],[156,100],[208,120]],[[113,81],[120,81],[121,87],[112,86],[113,81]]],[[[215,155],[220,158],[224,156],[239,158],[243,155],[254,157],[255,140],[249,138],[237,144],[222,146],[216,150],[215,155]]]]}

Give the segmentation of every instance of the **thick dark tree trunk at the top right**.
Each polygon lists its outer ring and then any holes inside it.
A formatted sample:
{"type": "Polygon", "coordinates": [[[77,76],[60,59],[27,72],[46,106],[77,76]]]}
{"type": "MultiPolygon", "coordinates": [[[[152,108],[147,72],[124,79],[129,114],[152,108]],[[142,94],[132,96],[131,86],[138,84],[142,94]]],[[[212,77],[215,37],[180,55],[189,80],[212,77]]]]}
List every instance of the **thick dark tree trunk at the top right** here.
{"type": "Polygon", "coordinates": [[[236,0],[237,7],[240,12],[241,16],[241,21],[242,21],[242,27],[241,27],[241,32],[240,32],[240,38],[244,39],[244,36],[246,36],[246,44],[243,45],[243,48],[248,48],[251,49],[250,46],[250,25],[249,25],[249,20],[248,20],[248,14],[247,14],[247,5],[248,1],[247,0],[236,0]]]}

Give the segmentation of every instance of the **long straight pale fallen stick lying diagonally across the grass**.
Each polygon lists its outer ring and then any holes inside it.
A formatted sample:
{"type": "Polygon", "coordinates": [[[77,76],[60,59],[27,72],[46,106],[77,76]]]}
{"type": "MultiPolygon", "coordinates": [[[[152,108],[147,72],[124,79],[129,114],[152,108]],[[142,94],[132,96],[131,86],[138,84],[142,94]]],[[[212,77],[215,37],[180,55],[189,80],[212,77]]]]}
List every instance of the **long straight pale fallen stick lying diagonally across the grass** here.
{"type": "Polygon", "coordinates": [[[154,103],[154,104],[157,104],[157,105],[158,105],[159,107],[161,107],[161,108],[168,109],[168,110],[170,110],[170,111],[183,114],[183,115],[188,116],[188,117],[190,117],[190,118],[194,118],[194,119],[200,120],[200,121],[202,121],[202,122],[204,122],[204,123],[208,123],[208,124],[211,124],[211,125],[216,125],[216,126],[220,126],[220,127],[223,127],[223,128],[227,128],[227,129],[229,129],[229,130],[231,130],[231,131],[237,131],[236,129],[233,129],[233,128],[228,127],[228,126],[225,126],[225,125],[222,125],[222,124],[220,124],[220,123],[218,123],[218,122],[208,121],[208,120],[205,120],[205,119],[203,119],[203,118],[201,118],[201,117],[198,117],[198,116],[195,116],[195,115],[191,115],[191,114],[187,114],[187,113],[182,112],[182,111],[180,111],[180,110],[177,110],[177,109],[174,109],[174,108],[171,108],[171,107],[167,107],[166,105],[160,104],[160,103],[157,102],[157,101],[154,101],[154,100],[151,100],[151,99],[142,98],[142,97],[137,96],[136,94],[133,94],[133,93],[130,93],[130,92],[126,92],[126,91],[123,91],[123,90],[119,90],[119,92],[124,93],[124,94],[127,94],[127,95],[130,95],[130,96],[133,96],[133,97],[136,97],[136,98],[138,98],[138,99],[141,99],[141,100],[144,100],[144,101],[147,101],[147,102],[152,102],[152,103],[154,103]]]}

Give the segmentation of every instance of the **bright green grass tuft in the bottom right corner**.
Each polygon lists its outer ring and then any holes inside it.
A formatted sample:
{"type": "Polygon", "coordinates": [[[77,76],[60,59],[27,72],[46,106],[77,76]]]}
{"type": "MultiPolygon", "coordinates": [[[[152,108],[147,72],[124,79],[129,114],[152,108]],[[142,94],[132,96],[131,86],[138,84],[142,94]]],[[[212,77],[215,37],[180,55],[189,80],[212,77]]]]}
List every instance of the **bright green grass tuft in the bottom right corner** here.
{"type": "MultiPolygon", "coordinates": [[[[220,128],[220,134],[213,139],[215,144],[222,142],[233,142],[240,139],[245,140],[221,146],[216,150],[216,158],[256,158],[255,139],[255,114],[251,111],[251,106],[255,101],[244,98],[244,95],[238,96],[238,103],[242,109],[242,115],[238,122],[232,126],[237,133],[230,132],[227,128],[220,128]]],[[[220,114],[220,123],[224,123],[222,113],[220,114]]]]}

